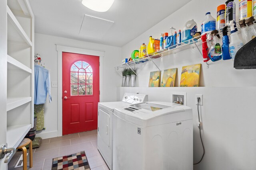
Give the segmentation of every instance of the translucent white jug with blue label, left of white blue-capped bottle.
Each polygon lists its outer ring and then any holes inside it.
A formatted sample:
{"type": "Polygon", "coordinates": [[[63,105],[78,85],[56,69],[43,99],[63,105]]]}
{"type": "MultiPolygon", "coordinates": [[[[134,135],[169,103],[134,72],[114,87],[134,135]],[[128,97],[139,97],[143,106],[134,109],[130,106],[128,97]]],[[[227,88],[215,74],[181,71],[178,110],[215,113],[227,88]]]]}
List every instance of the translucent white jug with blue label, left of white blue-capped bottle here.
{"type": "Polygon", "coordinates": [[[189,39],[192,39],[193,35],[197,32],[197,24],[192,19],[185,23],[185,27],[182,30],[182,42],[188,43],[189,39]]]}

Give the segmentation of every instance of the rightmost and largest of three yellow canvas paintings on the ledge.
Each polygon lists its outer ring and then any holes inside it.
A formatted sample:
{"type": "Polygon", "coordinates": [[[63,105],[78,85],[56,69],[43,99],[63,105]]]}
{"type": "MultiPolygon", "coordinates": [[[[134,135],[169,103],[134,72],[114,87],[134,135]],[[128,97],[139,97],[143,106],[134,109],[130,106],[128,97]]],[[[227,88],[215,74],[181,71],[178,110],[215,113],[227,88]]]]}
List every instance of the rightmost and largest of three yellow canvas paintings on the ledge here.
{"type": "Polygon", "coordinates": [[[180,87],[198,87],[201,72],[201,64],[183,66],[180,87]]]}

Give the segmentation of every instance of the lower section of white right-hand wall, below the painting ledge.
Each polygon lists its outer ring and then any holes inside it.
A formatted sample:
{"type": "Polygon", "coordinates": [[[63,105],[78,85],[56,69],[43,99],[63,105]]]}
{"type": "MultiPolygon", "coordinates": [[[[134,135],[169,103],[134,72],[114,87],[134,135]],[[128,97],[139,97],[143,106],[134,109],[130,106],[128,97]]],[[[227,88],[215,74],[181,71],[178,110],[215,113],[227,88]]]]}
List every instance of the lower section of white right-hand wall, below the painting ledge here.
{"type": "Polygon", "coordinates": [[[205,155],[194,170],[256,169],[256,87],[117,88],[118,100],[125,92],[148,94],[149,101],[171,101],[171,93],[186,92],[193,110],[194,162],[202,156],[196,94],[203,94],[199,107],[205,155]]]}

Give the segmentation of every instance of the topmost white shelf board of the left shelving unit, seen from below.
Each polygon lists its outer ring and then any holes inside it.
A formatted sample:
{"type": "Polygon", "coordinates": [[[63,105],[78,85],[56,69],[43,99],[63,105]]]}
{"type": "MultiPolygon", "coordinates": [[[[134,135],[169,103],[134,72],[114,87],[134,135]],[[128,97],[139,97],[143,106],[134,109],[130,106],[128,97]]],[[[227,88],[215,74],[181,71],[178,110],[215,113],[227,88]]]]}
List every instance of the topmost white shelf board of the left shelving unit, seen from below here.
{"type": "Polygon", "coordinates": [[[7,14],[8,14],[8,41],[17,41],[23,42],[25,41],[30,47],[32,47],[32,42],[28,38],[28,35],[20,25],[19,21],[16,19],[10,8],[7,6],[7,14]],[[9,21],[11,23],[9,23],[9,21]]]}

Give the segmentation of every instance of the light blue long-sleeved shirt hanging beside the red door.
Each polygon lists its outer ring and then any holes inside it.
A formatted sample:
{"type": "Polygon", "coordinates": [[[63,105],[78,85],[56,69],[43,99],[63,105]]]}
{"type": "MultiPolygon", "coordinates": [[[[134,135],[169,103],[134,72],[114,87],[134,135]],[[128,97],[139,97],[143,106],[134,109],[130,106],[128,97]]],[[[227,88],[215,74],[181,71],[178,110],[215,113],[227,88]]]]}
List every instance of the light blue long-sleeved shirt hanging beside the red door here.
{"type": "Polygon", "coordinates": [[[47,93],[49,94],[49,102],[51,102],[49,71],[40,65],[35,65],[34,78],[34,104],[44,104],[47,93]]]}

